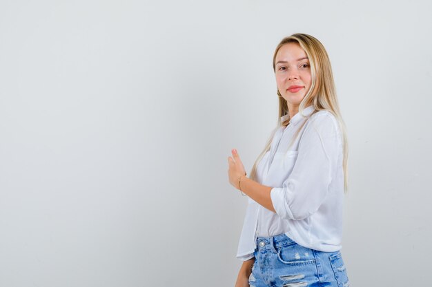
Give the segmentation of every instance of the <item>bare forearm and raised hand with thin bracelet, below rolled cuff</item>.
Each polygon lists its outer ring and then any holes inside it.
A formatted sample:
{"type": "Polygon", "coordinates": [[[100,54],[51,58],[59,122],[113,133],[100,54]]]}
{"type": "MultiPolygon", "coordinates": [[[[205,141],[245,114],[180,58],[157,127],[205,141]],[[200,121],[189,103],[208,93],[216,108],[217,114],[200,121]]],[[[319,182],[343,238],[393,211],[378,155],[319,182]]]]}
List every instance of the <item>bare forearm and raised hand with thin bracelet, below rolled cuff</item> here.
{"type": "Polygon", "coordinates": [[[270,191],[272,188],[259,184],[258,182],[256,182],[255,180],[251,180],[250,178],[246,178],[246,176],[244,176],[245,171],[242,160],[240,160],[237,150],[233,149],[231,152],[233,153],[233,158],[228,157],[228,176],[230,179],[230,183],[233,184],[236,189],[239,189],[246,193],[246,195],[255,200],[255,202],[257,202],[258,204],[264,206],[269,211],[273,211],[274,213],[276,213],[270,197],[270,191]]]}

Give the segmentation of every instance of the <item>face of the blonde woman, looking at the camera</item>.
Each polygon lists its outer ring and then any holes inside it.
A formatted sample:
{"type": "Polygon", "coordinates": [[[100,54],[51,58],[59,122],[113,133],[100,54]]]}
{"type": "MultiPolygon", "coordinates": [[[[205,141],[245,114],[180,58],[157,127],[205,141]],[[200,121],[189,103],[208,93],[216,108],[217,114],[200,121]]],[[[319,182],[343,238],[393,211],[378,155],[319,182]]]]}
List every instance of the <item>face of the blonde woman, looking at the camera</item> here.
{"type": "Polygon", "coordinates": [[[311,65],[306,52],[298,43],[287,43],[277,51],[275,62],[279,93],[288,109],[298,107],[311,87],[311,65]]]}

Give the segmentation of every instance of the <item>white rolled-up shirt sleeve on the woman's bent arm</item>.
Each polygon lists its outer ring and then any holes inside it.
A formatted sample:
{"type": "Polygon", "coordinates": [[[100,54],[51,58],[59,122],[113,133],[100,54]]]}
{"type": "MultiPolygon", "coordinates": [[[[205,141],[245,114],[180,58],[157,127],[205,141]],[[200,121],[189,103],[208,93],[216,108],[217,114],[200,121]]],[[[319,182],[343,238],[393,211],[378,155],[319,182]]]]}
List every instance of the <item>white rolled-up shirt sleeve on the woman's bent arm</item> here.
{"type": "Polygon", "coordinates": [[[342,157],[342,140],[334,116],[315,114],[304,126],[297,160],[282,187],[271,189],[277,215],[303,220],[320,208],[328,195],[335,167],[342,157]]]}

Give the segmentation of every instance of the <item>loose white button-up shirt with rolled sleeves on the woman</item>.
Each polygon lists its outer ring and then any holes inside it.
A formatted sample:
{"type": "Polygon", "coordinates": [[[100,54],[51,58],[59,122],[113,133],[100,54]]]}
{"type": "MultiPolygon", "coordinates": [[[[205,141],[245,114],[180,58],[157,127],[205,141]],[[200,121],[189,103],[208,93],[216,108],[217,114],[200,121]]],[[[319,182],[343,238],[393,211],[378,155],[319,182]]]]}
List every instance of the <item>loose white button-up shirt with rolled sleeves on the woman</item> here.
{"type": "Polygon", "coordinates": [[[333,114],[313,111],[306,107],[288,126],[279,127],[259,162],[257,182],[273,187],[276,213],[248,198],[237,258],[253,257],[257,236],[281,233],[318,251],[342,248],[342,136],[333,114]]]}

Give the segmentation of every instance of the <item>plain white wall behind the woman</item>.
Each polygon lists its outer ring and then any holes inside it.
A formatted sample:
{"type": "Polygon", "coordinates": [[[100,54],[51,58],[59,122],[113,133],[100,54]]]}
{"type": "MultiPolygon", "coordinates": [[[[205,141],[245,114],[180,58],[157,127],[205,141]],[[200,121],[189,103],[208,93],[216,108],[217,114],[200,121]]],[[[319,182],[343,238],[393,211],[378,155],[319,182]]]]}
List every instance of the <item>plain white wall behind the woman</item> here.
{"type": "Polygon", "coordinates": [[[425,286],[431,1],[0,2],[0,286],[233,286],[228,184],[277,121],[271,67],[306,32],[350,140],[351,286],[425,286]]]}

